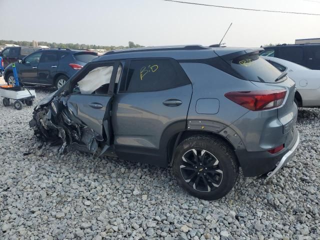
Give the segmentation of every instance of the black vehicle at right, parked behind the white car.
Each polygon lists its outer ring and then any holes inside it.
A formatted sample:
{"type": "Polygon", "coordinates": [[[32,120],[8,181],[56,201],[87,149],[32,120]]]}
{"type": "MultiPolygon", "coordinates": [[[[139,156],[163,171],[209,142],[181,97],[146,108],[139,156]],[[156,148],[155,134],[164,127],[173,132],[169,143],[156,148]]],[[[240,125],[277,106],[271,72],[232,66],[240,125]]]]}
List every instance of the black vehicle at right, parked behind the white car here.
{"type": "Polygon", "coordinates": [[[263,48],[261,56],[273,56],[310,69],[320,69],[320,44],[282,44],[263,48]]]}

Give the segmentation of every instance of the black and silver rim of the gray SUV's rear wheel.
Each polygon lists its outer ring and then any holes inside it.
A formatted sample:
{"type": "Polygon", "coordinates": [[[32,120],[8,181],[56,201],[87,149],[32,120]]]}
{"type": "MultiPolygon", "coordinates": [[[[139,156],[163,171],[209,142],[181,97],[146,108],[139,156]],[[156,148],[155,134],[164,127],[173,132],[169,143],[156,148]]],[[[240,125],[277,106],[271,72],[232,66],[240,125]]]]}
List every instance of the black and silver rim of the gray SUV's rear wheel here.
{"type": "Polygon", "coordinates": [[[210,192],[219,187],[223,177],[218,159],[204,149],[185,152],[181,159],[180,171],[188,185],[202,192],[210,192]]]}

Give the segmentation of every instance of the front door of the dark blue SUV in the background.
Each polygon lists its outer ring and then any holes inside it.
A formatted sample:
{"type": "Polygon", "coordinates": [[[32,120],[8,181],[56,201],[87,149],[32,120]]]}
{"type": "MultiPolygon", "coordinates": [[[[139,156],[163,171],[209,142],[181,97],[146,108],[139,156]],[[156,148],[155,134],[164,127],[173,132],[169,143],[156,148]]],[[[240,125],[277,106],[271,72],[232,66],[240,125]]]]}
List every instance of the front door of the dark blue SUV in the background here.
{"type": "Polygon", "coordinates": [[[16,70],[20,81],[23,83],[36,84],[37,83],[37,71],[38,64],[42,54],[41,51],[36,51],[25,58],[22,63],[16,64],[16,70]]]}

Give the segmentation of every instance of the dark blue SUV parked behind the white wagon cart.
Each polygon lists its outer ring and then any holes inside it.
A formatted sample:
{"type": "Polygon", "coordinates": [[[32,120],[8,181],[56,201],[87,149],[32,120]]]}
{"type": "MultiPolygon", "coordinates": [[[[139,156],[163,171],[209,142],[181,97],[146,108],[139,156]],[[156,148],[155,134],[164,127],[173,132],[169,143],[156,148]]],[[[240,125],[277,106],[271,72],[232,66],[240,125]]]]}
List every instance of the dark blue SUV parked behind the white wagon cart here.
{"type": "MultiPolygon", "coordinates": [[[[95,57],[97,53],[88,50],[43,48],[19,60],[15,67],[19,80],[25,85],[60,88],[70,76],[95,57]]],[[[12,64],[5,68],[4,80],[7,84],[14,81],[12,64]]]]}

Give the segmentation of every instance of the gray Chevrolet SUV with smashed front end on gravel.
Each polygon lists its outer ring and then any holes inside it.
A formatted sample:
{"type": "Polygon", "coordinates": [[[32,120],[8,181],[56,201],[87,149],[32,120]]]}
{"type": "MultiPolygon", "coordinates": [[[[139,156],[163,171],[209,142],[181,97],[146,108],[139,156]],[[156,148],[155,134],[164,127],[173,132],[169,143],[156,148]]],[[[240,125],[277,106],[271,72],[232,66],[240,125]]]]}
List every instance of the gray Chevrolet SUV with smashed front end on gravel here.
{"type": "Polygon", "coordinates": [[[262,48],[150,47],[87,63],[34,108],[35,134],[77,149],[161,167],[202,199],[244,176],[269,178],[299,135],[294,82],[262,48]]]}

